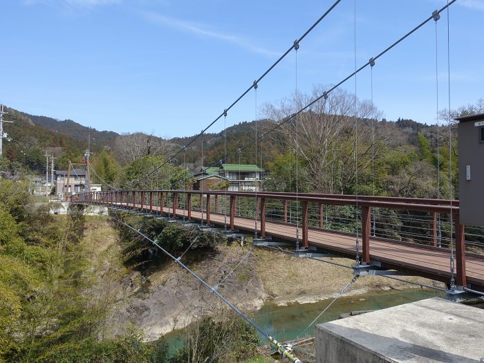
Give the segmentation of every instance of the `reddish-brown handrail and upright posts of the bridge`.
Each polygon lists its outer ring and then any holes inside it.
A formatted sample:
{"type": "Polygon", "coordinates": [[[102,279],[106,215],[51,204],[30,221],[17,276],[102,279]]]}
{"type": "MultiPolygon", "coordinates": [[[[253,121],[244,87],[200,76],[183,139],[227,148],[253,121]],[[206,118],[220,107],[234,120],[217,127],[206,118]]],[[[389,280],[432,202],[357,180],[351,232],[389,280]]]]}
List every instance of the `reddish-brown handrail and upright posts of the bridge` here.
{"type": "MultiPolygon", "coordinates": [[[[429,218],[430,245],[437,246],[438,241],[438,216],[446,214],[453,224],[455,241],[455,264],[456,283],[459,286],[466,286],[465,276],[465,227],[459,223],[459,203],[444,199],[422,199],[422,198],[394,198],[385,196],[353,196],[339,194],[294,194],[280,192],[225,192],[225,191],[196,191],[196,190],[115,190],[105,192],[86,192],[71,196],[72,203],[101,204],[111,207],[126,207],[129,209],[142,210],[151,213],[163,214],[168,212],[176,217],[176,210],[183,209],[187,212],[187,220],[192,220],[192,210],[203,212],[202,221],[210,225],[211,206],[214,212],[220,212],[219,198],[223,198],[224,212],[229,217],[228,227],[234,230],[234,221],[237,216],[236,205],[240,200],[252,200],[255,205],[252,209],[256,212],[256,218],[260,223],[260,235],[266,236],[267,205],[269,201],[279,201],[280,223],[288,223],[288,203],[296,205],[302,230],[301,243],[308,248],[309,205],[317,206],[317,226],[324,228],[324,206],[355,206],[359,207],[361,215],[361,237],[362,237],[362,261],[370,262],[370,238],[371,236],[371,214],[373,208],[384,208],[386,210],[405,210],[413,212],[425,212],[429,218]],[[194,196],[198,201],[194,203],[194,196]],[[170,209],[171,206],[171,209],[170,209]]],[[[185,212],[184,212],[185,214],[185,212]]],[[[239,214],[241,214],[239,212],[239,214]]],[[[313,213],[314,214],[314,213],[313,213]]],[[[200,219],[200,218],[198,218],[200,219]]],[[[313,223],[314,224],[314,223],[313,223]]],[[[452,236],[451,236],[452,238],[452,236]]]]}

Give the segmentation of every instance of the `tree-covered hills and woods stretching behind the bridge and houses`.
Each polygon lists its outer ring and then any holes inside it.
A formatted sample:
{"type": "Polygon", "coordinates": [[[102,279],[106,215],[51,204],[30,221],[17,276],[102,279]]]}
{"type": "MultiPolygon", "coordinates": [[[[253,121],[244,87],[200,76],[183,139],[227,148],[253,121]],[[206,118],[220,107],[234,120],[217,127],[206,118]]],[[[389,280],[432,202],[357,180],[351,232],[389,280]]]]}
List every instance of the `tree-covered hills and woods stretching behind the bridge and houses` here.
{"type": "MultiPolygon", "coordinates": [[[[454,127],[449,133],[449,124],[444,121],[437,126],[406,118],[386,120],[366,101],[358,101],[355,118],[350,99],[353,100],[345,91],[335,92],[328,100],[316,103],[314,109],[300,113],[297,120],[283,123],[277,120],[287,120],[286,115],[294,113],[295,100],[292,100],[292,109],[291,100],[287,101],[286,109],[269,106],[264,112],[266,118],[257,120],[257,137],[256,122],[252,121],[235,124],[220,133],[171,140],[144,133],[119,135],[113,131],[97,131],[72,120],[58,121],[8,109],[6,120],[15,122],[6,124],[5,131],[12,142],[4,144],[6,158],[0,167],[5,169],[3,165],[10,162],[10,169],[24,167],[26,171],[42,171],[47,151],[56,157],[56,169],[65,168],[68,160],[80,162],[84,158],[91,133],[93,167],[111,185],[127,183],[133,176],[126,179],[126,171],[137,160],[149,157],[142,163],[153,163],[145,165],[149,173],[180,151],[171,164],[189,171],[202,166],[215,167],[221,160],[233,164],[257,163],[270,171],[265,183],[268,190],[295,190],[297,159],[297,183],[301,192],[354,194],[358,190],[359,194],[447,198],[450,180],[453,196],[457,195],[458,151],[454,127]],[[181,151],[185,145],[189,147],[181,151]],[[449,153],[453,156],[452,175],[449,153]]],[[[483,103],[479,100],[477,106],[463,106],[452,111],[452,117],[483,111],[483,103]]]]}

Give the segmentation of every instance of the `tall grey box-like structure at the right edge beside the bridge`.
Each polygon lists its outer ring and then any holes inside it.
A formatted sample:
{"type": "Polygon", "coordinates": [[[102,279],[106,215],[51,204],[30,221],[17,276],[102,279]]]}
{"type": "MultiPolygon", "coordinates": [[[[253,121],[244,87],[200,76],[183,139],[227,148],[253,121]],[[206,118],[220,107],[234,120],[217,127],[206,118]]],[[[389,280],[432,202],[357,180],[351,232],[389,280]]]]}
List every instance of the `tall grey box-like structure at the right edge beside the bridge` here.
{"type": "Polygon", "coordinates": [[[476,122],[458,124],[460,223],[484,225],[484,142],[476,122]],[[466,180],[466,166],[471,179],[466,180]]]}

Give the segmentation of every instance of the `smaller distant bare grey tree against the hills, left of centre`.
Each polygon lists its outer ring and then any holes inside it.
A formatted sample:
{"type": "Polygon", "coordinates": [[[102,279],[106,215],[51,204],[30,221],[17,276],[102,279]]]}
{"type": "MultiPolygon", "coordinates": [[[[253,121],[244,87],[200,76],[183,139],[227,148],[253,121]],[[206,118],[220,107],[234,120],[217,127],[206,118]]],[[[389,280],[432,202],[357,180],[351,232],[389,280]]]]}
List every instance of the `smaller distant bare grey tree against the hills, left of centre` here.
{"type": "Polygon", "coordinates": [[[147,155],[166,156],[170,145],[168,140],[137,132],[118,136],[115,149],[122,162],[129,164],[147,155]]]}

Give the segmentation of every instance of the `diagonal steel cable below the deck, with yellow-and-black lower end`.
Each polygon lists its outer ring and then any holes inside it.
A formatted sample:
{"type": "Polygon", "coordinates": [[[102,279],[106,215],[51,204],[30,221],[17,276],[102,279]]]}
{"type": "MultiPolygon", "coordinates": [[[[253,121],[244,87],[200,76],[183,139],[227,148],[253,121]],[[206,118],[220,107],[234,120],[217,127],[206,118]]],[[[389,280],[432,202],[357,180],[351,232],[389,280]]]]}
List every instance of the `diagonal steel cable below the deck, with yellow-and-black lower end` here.
{"type": "Polygon", "coordinates": [[[124,225],[125,227],[129,228],[130,230],[133,230],[134,232],[140,234],[140,236],[142,236],[144,239],[147,239],[147,241],[149,241],[153,245],[155,245],[158,249],[160,249],[164,254],[166,254],[175,263],[178,263],[178,265],[181,268],[183,268],[184,270],[186,270],[189,274],[192,274],[192,276],[196,280],[198,280],[203,286],[205,286],[205,288],[209,289],[210,292],[212,292],[212,294],[216,295],[216,297],[218,297],[218,299],[221,299],[223,301],[223,303],[225,303],[232,310],[234,310],[234,312],[237,315],[239,315],[242,319],[244,319],[245,322],[248,322],[248,324],[250,324],[253,328],[255,328],[264,337],[266,337],[266,339],[268,339],[268,341],[270,342],[270,344],[272,344],[273,346],[275,346],[277,348],[277,350],[281,354],[286,355],[286,357],[288,357],[294,363],[302,363],[297,357],[295,357],[295,355],[292,355],[292,353],[288,352],[286,350],[286,348],[284,348],[282,346],[282,344],[280,344],[279,342],[277,342],[276,339],[274,339],[273,337],[271,337],[270,335],[268,335],[268,333],[264,332],[257,324],[255,324],[254,322],[252,322],[252,320],[249,317],[247,317],[246,315],[244,315],[241,312],[241,310],[239,310],[238,308],[236,308],[236,306],[234,306],[230,301],[228,301],[225,297],[223,297],[223,295],[221,295],[221,293],[218,292],[215,287],[212,287],[208,283],[206,283],[201,277],[198,276],[198,274],[196,274],[195,272],[193,272],[183,262],[181,262],[178,259],[176,259],[176,257],[174,257],[171,253],[169,253],[167,250],[165,250],[160,245],[158,245],[158,243],[156,243],[156,241],[153,241],[152,239],[149,238],[149,236],[147,236],[146,234],[143,234],[142,232],[140,232],[140,230],[137,230],[136,228],[131,227],[131,225],[129,225],[127,223],[124,223],[123,221],[120,221],[120,219],[118,219],[118,218],[113,218],[113,220],[117,221],[118,223],[121,223],[122,225],[124,225]]]}

